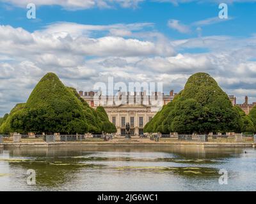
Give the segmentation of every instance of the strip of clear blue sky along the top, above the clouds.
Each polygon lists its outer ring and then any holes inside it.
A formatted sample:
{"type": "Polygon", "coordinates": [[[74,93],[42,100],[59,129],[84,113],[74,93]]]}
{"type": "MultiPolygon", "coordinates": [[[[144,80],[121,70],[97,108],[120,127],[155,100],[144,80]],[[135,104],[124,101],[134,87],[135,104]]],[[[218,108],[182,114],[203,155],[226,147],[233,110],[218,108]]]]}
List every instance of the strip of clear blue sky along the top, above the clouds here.
{"type": "MultiPolygon", "coordinates": [[[[221,1],[222,2],[222,1],[221,1]]],[[[225,2],[225,1],[223,1],[225,2]]],[[[182,24],[190,25],[193,22],[217,17],[220,9],[219,3],[182,3],[178,6],[172,3],[159,3],[155,1],[143,1],[136,8],[115,7],[90,8],[85,10],[67,10],[61,6],[38,6],[36,8],[36,20],[26,18],[26,6],[15,7],[13,4],[1,3],[0,22],[3,25],[22,27],[27,31],[42,29],[53,22],[76,22],[77,24],[109,25],[132,24],[135,22],[152,22],[154,29],[174,39],[193,38],[198,35],[193,27],[189,34],[180,34],[166,26],[169,19],[180,20],[182,24]]],[[[250,36],[255,33],[256,3],[228,4],[228,16],[233,18],[225,22],[205,25],[203,34],[250,36]]]]}

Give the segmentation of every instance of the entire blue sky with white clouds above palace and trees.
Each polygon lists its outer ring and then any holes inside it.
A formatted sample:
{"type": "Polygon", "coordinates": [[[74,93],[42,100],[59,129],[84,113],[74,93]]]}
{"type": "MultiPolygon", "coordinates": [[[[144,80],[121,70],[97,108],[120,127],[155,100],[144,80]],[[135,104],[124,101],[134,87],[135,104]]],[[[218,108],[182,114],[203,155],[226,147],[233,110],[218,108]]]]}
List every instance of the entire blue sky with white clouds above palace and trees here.
{"type": "Polygon", "coordinates": [[[0,0],[0,117],[48,72],[83,91],[113,77],[163,82],[165,93],[206,72],[252,103],[255,20],[256,0],[0,0]],[[27,18],[29,3],[36,18],[27,18]]]}

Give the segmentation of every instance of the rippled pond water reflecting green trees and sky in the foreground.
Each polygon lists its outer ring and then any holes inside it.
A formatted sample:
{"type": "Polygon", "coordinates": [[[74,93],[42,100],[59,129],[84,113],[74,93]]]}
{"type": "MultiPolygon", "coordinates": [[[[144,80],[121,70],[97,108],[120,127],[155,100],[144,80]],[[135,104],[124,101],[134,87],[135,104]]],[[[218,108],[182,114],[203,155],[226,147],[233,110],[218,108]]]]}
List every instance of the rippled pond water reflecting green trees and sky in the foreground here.
{"type": "Polygon", "coordinates": [[[6,149],[0,150],[0,190],[254,190],[256,152],[246,152],[203,147],[6,149]],[[228,170],[227,186],[218,184],[221,168],[228,170]],[[36,171],[35,186],[26,184],[29,169],[36,171]]]}

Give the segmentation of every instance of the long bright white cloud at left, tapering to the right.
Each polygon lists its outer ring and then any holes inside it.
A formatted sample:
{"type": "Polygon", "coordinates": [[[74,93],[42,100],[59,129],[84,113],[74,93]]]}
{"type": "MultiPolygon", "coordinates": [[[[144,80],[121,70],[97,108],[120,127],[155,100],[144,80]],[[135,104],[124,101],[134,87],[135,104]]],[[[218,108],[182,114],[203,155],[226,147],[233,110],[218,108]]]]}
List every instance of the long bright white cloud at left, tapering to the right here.
{"type": "MultiPolygon", "coordinates": [[[[163,45],[153,41],[138,40],[134,38],[122,38],[119,36],[103,36],[102,38],[91,38],[87,36],[86,31],[108,30],[112,27],[118,28],[119,25],[109,26],[93,26],[56,24],[47,27],[42,31],[29,33],[22,28],[13,28],[9,25],[0,25],[0,46],[8,47],[1,49],[0,54],[17,59],[25,58],[34,59],[35,56],[48,57],[49,61],[58,59],[58,57],[68,57],[68,54],[76,54],[77,56],[137,56],[137,55],[173,55],[174,51],[170,45],[163,45]],[[73,26],[72,26],[73,25],[73,26]],[[88,28],[89,27],[89,28],[88,28]],[[41,56],[42,53],[47,55],[41,56]],[[54,56],[53,56],[54,55],[54,56]],[[60,55],[60,56],[59,56],[60,55]],[[50,57],[50,58],[49,58],[50,57]]],[[[119,27],[123,27],[120,25],[119,27]]],[[[131,25],[127,25],[129,28],[131,25]]],[[[134,30],[140,29],[140,25],[134,24],[134,30]],[[136,27],[137,26],[137,27],[136,27]]],[[[72,58],[72,61],[76,58],[72,58]]],[[[79,57],[77,57],[79,60],[79,57]]],[[[66,60],[67,62],[67,60],[66,60]]]]}

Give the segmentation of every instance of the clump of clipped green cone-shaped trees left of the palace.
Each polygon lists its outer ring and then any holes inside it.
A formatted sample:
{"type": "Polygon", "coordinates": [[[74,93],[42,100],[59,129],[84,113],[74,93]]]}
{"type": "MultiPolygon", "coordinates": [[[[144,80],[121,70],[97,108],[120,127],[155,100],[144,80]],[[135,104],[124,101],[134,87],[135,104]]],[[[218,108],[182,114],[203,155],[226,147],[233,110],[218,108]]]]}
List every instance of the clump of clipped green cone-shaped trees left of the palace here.
{"type": "Polygon", "coordinates": [[[76,89],[65,87],[54,73],[47,73],[27,103],[13,108],[0,132],[101,133],[107,126],[115,131],[106,115],[88,106],[76,89]]]}

